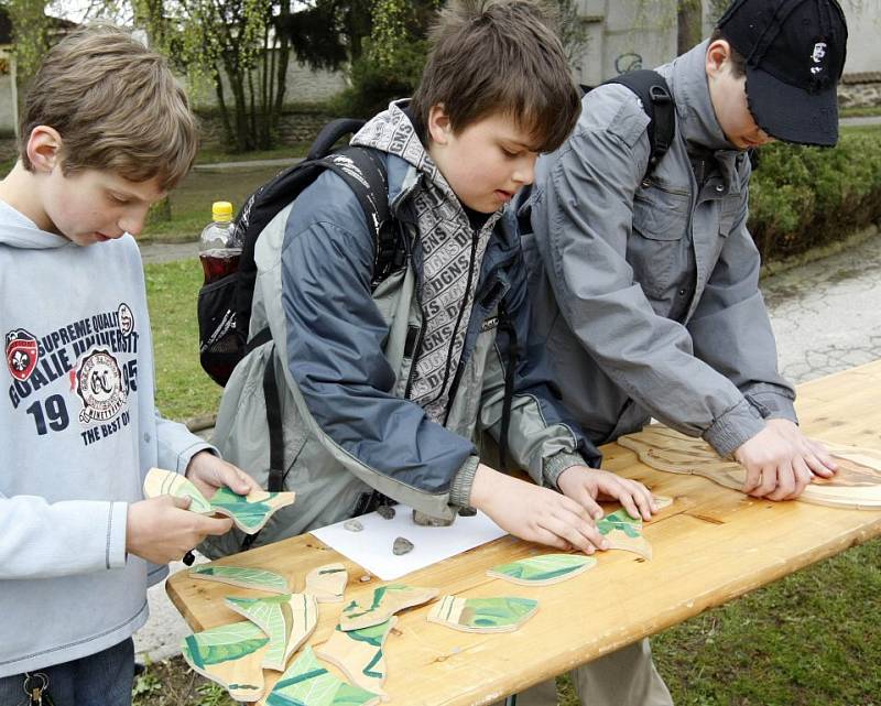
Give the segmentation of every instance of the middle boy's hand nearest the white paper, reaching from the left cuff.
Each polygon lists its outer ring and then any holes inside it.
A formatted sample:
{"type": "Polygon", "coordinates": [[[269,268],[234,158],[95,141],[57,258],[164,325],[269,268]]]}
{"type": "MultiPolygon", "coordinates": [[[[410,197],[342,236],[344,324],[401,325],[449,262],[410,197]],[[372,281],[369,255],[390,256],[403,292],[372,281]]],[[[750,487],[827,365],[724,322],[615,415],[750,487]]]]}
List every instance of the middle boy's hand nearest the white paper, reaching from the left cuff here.
{"type": "Polygon", "coordinates": [[[607,548],[588,511],[550,488],[512,478],[480,464],[471,486],[470,504],[486,512],[514,536],[585,554],[607,548]]]}

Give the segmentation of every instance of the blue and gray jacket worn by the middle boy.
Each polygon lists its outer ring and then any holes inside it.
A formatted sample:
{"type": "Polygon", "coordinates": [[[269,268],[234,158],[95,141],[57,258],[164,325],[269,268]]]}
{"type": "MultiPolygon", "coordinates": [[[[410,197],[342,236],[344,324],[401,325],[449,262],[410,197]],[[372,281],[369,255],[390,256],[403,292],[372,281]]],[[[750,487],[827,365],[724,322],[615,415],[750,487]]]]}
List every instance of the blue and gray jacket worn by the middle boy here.
{"type": "MultiPolygon", "coordinates": [[[[566,468],[585,459],[599,463],[598,452],[559,404],[541,347],[527,346],[526,271],[511,209],[471,229],[475,243],[486,237],[486,248],[470,263],[474,304],[460,323],[464,345],[442,422],[407,399],[413,361],[425,345],[420,224],[432,224],[432,237],[456,225],[445,219],[470,225],[418,140],[402,135],[412,127],[402,122],[401,110],[392,106],[374,121],[390,119],[399,139],[381,154],[390,208],[411,243],[403,270],[371,292],[372,236],[355,194],[330,172],[279,213],[257,242],[251,334],[269,326],[273,340],[237,366],[214,438],[225,458],[265,484],[262,381],[268,362],[275,366],[282,381],[284,485],[296,492],[296,502],[272,517],[257,544],[363,511],[373,490],[440,518],[467,504],[481,432],[498,437],[500,431],[511,343],[499,327],[502,303],[521,349],[509,434],[512,459],[535,482],[551,487],[566,468]],[[420,199],[420,193],[432,197],[420,199]],[[431,202],[436,213],[414,208],[431,202]]],[[[380,128],[369,123],[363,134],[382,133],[380,128]]],[[[227,535],[205,550],[215,556],[232,553],[240,540],[227,535]]]]}

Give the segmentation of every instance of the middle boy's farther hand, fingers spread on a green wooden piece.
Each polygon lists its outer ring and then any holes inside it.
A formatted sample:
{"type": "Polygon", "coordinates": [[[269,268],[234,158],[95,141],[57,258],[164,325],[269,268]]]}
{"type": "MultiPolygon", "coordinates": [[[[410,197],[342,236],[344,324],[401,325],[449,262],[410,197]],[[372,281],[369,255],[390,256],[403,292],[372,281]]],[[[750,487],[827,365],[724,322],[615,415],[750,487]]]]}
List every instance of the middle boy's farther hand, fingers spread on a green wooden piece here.
{"type": "Polygon", "coordinates": [[[617,500],[632,518],[651,520],[657,506],[649,490],[641,482],[621,478],[608,470],[588,466],[572,466],[564,470],[557,485],[567,498],[587,508],[594,520],[602,518],[602,508],[597,500],[617,500]]]}

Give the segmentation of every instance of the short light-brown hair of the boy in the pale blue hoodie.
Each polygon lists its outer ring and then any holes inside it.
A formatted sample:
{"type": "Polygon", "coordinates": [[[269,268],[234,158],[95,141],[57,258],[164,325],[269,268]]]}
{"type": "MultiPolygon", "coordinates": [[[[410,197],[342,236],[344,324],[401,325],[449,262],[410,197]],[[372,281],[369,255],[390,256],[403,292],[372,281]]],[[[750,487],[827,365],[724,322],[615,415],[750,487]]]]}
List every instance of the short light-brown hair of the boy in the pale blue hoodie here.
{"type": "Polygon", "coordinates": [[[196,156],[198,131],[165,59],[106,24],[78,30],[46,54],[28,93],[19,152],[26,170],[31,131],[62,135],[64,174],[112,171],[173,187],[196,156]]]}

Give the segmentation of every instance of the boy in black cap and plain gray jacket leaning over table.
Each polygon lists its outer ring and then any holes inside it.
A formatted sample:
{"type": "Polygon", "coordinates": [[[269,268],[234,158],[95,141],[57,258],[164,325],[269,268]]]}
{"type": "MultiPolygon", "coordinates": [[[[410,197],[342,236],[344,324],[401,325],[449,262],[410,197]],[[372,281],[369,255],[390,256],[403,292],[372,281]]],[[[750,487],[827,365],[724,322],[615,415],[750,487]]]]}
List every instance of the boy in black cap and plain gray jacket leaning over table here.
{"type": "MultiPolygon", "coordinates": [[[[736,458],[744,491],[772,500],[834,473],[798,431],[777,372],[746,151],[836,143],[846,40],[835,0],[736,0],[710,40],[657,69],[675,137],[651,172],[650,119],[616,84],[587,94],[572,137],[540,159],[524,239],[533,343],[546,344],[594,443],[655,417],[736,458]]],[[[575,683],[591,706],[671,703],[648,641],[579,669],[575,683]]]]}

